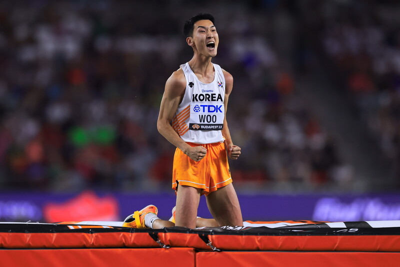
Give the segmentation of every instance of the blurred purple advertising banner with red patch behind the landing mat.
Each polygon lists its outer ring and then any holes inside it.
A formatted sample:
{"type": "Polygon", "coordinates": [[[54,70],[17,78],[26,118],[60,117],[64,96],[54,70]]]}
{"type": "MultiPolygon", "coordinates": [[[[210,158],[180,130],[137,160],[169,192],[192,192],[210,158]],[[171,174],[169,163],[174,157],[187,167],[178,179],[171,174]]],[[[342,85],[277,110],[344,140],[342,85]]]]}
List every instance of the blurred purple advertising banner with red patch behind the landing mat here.
{"type": "MultiPolygon", "coordinates": [[[[397,194],[239,194],[243,220],[364,221],[400,220],[397,194]]],[[[158,216],[168,219],[175,195],[79,193],[0,193],[0,221],[120,221],[135,210],[153,204],[158,216]]],[[[198,216],[211,217],[201,197],[198,216]]]]}

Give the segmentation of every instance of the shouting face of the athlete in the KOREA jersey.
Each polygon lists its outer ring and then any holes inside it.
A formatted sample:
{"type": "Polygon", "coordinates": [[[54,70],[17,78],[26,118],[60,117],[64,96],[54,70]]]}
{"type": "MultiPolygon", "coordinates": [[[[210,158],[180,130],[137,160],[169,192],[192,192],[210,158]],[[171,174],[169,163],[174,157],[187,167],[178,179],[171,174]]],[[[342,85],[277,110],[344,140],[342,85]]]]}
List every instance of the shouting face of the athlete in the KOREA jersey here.
{"type": "Polygon", "coordinates": [[[200,54],[215,57],[218,48],[218,34],[215,26],[209,20],[194,23],[193,35],[186,39],[187,44],[196,49],[200,54]]]}

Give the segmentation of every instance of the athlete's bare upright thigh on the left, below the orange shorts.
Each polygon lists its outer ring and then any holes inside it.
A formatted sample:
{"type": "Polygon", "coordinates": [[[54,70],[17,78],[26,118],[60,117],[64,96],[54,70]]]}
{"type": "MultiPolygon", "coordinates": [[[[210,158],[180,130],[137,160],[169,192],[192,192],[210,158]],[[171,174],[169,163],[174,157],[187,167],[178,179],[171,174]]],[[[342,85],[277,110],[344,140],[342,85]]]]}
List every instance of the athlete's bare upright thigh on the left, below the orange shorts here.
{"type": "Polygon", "coordinates": [[[200,190],[191,186],[178,185],[176,190],[175,225],[187,228],[196,227],[200,190]]]}

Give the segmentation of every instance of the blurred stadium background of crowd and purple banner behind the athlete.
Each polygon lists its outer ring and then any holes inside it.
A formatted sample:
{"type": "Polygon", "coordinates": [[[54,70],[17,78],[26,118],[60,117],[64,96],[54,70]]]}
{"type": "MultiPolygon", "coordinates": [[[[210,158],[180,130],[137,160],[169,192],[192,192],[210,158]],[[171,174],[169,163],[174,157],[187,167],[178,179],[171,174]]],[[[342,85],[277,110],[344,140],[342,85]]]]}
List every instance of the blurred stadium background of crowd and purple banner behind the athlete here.
{"type": "MultiPolygon", "coordinates": [[[[0,220],[170,215],[156,130],[181,34],[215,17],[243,217],[400,219],[396,1],[0,3],[0,220]],[[57,215],[58,214],[58,215],[57,215]]],[[[207,216],[202,202],[199,215],[207,216]]]]}

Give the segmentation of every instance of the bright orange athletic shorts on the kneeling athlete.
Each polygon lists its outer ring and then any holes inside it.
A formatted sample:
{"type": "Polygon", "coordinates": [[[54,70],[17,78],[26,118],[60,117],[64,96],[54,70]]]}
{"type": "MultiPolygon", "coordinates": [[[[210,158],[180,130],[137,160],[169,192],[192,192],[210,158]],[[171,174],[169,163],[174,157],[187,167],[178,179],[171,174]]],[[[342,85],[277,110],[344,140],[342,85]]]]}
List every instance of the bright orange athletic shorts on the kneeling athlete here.
{"type": "MultiPolygon", "coordinates": [[[[199,144],[187,143],[190,146],[199,144]]],[[[232,182],[224,143],[201,145],[207,153],[200,161],[194,161],[176,148],[173,156],[172,189],[177,184],[200,188],[207,195],[232,182]]]]}

